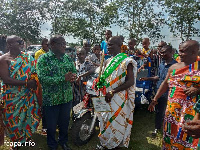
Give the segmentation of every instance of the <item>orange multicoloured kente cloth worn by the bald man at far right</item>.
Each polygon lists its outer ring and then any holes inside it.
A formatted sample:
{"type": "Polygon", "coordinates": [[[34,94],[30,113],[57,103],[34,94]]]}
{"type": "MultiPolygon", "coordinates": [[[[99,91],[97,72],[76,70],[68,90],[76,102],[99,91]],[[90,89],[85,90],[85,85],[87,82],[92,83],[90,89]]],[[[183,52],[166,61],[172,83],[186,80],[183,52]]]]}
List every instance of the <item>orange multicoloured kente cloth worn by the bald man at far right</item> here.
{"type": "Polygon", "coordinates": [[[200,62],[173,70],[169,84],[167,109],[164,119],[164,150],[192,150],[197,148],[198,139],[188,136],[183,130],[183,124],[195,116],[194,105],[197,97],[184,94],[187,87],[200,87],[200,62]]]}

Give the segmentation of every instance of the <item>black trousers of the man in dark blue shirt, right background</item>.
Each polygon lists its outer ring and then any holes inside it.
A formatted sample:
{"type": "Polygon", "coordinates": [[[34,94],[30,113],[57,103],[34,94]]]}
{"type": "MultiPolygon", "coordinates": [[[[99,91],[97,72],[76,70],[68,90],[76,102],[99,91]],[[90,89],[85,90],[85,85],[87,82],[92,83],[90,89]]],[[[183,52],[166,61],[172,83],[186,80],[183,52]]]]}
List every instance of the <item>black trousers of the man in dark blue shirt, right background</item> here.
{"type": "Polygon", "coordinates": [[[161,129],[162,127],[166,106],[167,106],[167,97],[161,96],[158,99],[158,104],[156,105],[155,108],[156,109],[155,129],[161,129]]]}

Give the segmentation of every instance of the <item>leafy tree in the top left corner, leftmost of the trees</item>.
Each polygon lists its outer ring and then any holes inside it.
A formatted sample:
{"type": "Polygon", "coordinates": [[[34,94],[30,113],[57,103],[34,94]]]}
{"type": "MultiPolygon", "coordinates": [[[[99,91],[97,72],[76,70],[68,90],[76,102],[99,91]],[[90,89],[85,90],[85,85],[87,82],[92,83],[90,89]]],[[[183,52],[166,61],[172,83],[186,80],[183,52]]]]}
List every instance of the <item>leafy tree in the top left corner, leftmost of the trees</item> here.
{"type": "Polygon", "coordinates": [[[40,2],[37,0],[3,0],[0,4],[0,32],[18,35],[26,41],[37,42],[42,24],[40,2]]]}

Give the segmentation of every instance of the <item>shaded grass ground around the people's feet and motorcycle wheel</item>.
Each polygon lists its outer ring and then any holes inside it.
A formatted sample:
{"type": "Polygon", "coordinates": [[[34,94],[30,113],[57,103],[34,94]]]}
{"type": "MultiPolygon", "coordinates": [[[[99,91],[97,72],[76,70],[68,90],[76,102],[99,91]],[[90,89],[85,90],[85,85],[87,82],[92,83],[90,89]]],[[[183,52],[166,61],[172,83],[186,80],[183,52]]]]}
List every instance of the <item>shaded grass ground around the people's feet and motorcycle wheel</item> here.
{"type": "MultiPolygon", "coordinates": [[[[128,150],[160,150],[161,149],[161,133],[158,137],[153,138],[151,132],[154,130],[154,113],[147,111],[146,107],[136,109],[134,113],[134,121],[131,133],[131,140],[129,143],[128,150]]],[[[41,126],[39,127],[41,129],[41,126]]],[[[69,146],[72,150],[94,150],[98,140],[98,132],[92,137],[90,142],[84,146],[77,147],[73,144],[70,135],[73,134],[69,130],[69,146]]],[[[8,141],[8,139],[6,138],[8,141]]],[[[35,142],[34,147],[21,147],[20,150],[48,150],[46,144],[46,136],[40,135],[40,130],[33,135],[33,140],[35,142]]],[[[127,148],[121,148],[122,150],[127,150],[127,148]]],[[[0,150],[9,150],[9,147],[1,146],[0,150]]],[[[61,147],[58,150],[62,150],[61,147]]]]}

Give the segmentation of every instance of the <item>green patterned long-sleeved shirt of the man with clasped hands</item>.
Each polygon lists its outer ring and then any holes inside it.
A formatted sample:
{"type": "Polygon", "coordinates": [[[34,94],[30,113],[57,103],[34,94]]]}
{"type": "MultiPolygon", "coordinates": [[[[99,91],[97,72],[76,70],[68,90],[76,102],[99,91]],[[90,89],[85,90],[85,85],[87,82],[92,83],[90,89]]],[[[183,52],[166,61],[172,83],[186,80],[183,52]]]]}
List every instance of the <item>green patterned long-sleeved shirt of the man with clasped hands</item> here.
{"type": "Polygon", "coordinates": [[[37,74],[42,85],[43,106],[64,104],[73,99],[72,85],[65,81],[68,72],[76,73],[76,68],[67,54],[58,59],[49,51],[38,59],[37,74]]]}

